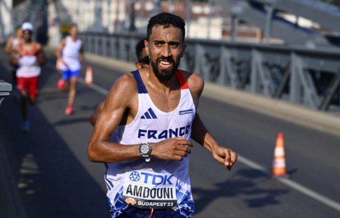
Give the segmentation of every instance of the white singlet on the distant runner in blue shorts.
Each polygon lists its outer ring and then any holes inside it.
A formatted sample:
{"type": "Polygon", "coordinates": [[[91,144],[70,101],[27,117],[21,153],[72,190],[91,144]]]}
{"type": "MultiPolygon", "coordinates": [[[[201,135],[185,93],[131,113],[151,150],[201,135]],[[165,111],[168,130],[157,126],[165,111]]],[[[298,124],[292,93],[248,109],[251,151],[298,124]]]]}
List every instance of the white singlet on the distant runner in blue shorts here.
{"type": "Polygon", "coordinates": [[[79,61],[79,52],[82,48],[82,40],[77,39],[75,42],[71,36],[66,36],[65,47],[62,51],[62,59],[68,65],[65,66],[63,63],[60,64],[60,68],[63,71],[78,71],[81,68],[79,61]]]}

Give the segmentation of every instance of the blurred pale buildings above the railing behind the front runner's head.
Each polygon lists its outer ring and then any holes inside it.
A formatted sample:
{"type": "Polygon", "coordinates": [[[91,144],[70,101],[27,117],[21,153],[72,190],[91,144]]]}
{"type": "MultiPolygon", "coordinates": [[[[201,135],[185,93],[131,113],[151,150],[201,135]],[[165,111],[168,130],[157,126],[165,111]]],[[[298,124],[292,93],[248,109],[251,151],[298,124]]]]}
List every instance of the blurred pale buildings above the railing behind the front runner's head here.
{"type": "Polygon", "coordinates": [[[48,6],[50,43],[71,23],[80,31],[145,33],[151,16],[163,11],[187,22],[187,37],[221,39],[224,21],[217,5],[189,0],[52,0],[48,6]],[[188,13],[187,7],[190,8],[188,13]],[[189,16],[189,17],[188,17],[189,16]],[[133,20],[132,20],[133,19],[133,20]]]}

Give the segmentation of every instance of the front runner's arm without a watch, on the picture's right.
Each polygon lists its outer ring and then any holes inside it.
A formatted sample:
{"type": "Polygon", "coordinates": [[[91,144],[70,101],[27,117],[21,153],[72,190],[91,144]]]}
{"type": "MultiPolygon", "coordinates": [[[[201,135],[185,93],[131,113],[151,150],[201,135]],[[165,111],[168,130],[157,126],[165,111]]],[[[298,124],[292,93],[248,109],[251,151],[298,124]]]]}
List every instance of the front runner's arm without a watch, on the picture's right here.
{"type": "MultiPolygon", "coordinates": [[[[197,74],[193,73],[188,78],[188,85],[195,107],[197,108],[199,98],[203,92],[204,80],[197,74]]],[[[191,139],[197,141],[205,149],[207,149],[215,160],[223,164],[225,169],[231,170],[237,160],[238,154],[229,148],[221,147],[221,145],[208,132],[197,112],[191,126],[191,139]]]]}

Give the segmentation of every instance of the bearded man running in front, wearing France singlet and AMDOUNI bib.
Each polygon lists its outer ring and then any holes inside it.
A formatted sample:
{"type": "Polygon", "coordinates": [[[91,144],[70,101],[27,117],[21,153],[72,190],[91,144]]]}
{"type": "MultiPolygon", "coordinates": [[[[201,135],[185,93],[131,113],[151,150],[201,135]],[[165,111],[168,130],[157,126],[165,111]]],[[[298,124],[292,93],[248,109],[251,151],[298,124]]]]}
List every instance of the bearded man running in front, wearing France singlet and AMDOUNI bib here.
{"type": "Polygon", "coordinates": [[[190,137],[225,169],[236,162],[238,155],[221,147],[196,113],[204,80],[178,69],[184,38],[181,17],[153,16],[145,42],[151,67],[121,76],[106,97],[88,157],[106,163],[112,218],[192,216],[190,137]]]}

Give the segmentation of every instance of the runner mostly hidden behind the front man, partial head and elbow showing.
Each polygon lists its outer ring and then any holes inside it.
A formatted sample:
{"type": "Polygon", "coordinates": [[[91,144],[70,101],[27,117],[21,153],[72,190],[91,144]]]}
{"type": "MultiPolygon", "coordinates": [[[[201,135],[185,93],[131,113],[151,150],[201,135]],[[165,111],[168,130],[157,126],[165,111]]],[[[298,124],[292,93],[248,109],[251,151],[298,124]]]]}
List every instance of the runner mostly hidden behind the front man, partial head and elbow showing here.
{"type": "MultiPolygon", "coordinates": [[[[137,62],[135,62],[137,69],[143,69],[146,67],[149,67],[150,64],[150,58],[149,55],[145,51],[145,45],[144,40],[140,40],[136,45],[136,57],[137,62]]],[[[96,120],[99,117],[99,114],[102,112],[102,109],[104,107],[105,101],[103,101],[97,109],[93,112],[93,114],[90,117],[90,123],[94,126],[96,124],[96,120]]]]}

